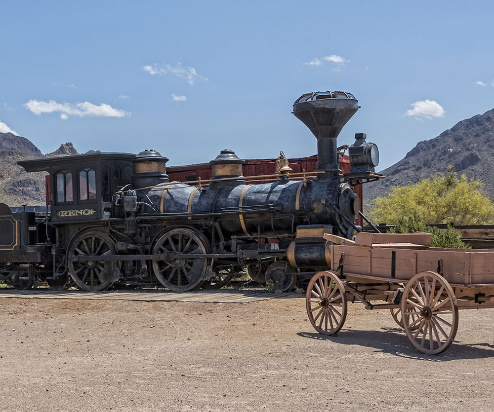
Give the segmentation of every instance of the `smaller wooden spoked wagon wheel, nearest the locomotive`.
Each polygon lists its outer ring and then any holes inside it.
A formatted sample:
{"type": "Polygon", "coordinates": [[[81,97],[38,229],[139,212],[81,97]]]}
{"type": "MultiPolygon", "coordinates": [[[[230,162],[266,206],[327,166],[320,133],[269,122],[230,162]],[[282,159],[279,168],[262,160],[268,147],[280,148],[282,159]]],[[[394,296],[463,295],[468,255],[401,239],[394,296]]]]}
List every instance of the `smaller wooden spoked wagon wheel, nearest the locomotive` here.
{"type": "Polygon", "coordinates": [[[343,327],[347,310],[345,286],[333,272],[319,272],[312,277],[305,303],[309,320],[320,334],[333,335],[343,327]]]}

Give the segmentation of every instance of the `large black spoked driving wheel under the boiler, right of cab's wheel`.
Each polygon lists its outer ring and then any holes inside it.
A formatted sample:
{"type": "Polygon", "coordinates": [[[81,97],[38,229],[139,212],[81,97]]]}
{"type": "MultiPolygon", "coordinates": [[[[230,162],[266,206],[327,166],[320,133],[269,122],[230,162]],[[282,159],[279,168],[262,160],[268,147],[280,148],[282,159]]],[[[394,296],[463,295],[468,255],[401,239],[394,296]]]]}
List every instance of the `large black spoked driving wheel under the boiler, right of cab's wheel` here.
{"type": "Polygon", "coordinates": [[[199,286],[206,275],[208,259],[206,240],[195,230],[177,227],[165,232],[155,243],[153,254],[176,253],[187,258],[153,261],[154,274],[165,286],[175,292],[186,292],[199,286]]]}

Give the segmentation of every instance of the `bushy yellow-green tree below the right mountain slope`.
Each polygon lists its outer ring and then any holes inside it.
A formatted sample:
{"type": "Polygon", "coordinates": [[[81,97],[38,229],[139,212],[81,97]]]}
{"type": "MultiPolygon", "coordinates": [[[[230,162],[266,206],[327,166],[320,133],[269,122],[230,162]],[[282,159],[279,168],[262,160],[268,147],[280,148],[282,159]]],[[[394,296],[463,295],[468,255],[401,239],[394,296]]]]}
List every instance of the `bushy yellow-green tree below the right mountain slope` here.
{"type": "Polygon", "coordinates": [[[485,196],[480,180],[459,178],[450,167],[446,174],[398,186],[374,201],[369,215],[374,222],[396,225],[415,216],[424,224],[492,225],[494,203],[485,196]]]}

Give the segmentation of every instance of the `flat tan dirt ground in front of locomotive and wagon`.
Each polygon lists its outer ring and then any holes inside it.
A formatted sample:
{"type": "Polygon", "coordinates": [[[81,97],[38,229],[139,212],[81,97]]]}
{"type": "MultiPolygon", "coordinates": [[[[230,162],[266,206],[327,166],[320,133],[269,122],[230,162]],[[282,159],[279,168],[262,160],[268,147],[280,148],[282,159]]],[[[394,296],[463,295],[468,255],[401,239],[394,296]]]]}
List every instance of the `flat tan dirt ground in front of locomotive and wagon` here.
{"type": "Polygon", "coordinates": [[[417,352],[386,310],[317,335],[303,298],[0,299],[1,411],[492,411],[494,310],[417,352]]]}

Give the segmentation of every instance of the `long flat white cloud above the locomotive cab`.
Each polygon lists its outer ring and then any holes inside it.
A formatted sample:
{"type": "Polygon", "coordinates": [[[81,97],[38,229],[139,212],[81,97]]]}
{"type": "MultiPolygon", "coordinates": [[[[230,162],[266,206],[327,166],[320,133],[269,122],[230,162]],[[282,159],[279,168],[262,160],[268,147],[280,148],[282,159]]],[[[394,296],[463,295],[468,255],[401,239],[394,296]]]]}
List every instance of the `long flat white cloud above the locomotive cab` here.
{"type": "Polygon", "coordinates": [[[129,114],[121,109],[115,109],[106,103],[95,105],[89,102],[57,103],[54,100],[50,100],[49,102],[30,100],[23,106],[37,116],[43,113],[58,112],[62,119],[67,119],[69,116],[124,117],[129,114]]]}

